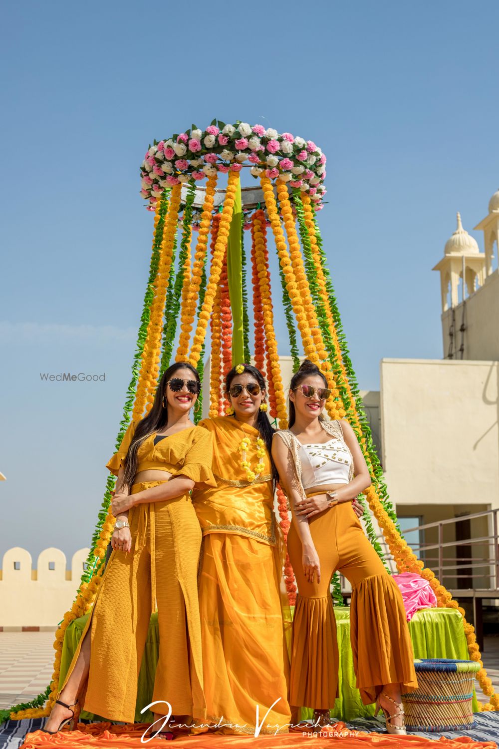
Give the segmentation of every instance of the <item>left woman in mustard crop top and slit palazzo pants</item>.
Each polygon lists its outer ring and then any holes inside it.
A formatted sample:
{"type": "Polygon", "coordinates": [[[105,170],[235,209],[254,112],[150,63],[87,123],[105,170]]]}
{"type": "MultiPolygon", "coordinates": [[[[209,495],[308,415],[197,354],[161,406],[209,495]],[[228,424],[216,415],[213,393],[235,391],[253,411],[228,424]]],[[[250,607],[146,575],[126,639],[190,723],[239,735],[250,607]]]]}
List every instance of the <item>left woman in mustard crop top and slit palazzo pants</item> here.
{"type": "Polygon", "coordinates": [[[206,714],[197,589],[201,532],[189,492],[195,485],[215,486],[215,480],[212,436],[189,419],[199,392],[194,367],[169,367],[150,412],[129,425],[107,464],[117,476],[113,551],[48,731],[79,708],[133,723],[156,601],[159,660],[152,701],[162,700],[156,716],[168,714],[167,702],[177,719],[206,714]]]}

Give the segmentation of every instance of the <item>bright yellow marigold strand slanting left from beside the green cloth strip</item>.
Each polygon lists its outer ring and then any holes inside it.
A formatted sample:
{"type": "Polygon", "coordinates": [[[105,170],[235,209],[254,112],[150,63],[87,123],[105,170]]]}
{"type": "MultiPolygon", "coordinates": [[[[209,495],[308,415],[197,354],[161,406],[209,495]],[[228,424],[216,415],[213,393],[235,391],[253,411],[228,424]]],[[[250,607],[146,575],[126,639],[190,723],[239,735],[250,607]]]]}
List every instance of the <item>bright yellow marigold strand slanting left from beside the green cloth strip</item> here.
{"type": "Polygon", "coordinates": [[[221,212],[220,222],[218,224],[218,236],[215,242],[215,252],[212,259],[212,265],[209,271],[209,281],[206,284],[203,306],[199,313],[198,326],[194,336],[194,341],[189,354],[189,362],[192,366],[197,366],[201,347],[206,338],[206,328],[208,327],[209,315],[215,301],[216,289],[220,281],[221,266],[224,260],[224,253],[227,251],[227,241],[229,238],[230,221],[232,220],[234,201],[236,199],[236,189],[239,184],[239,172],[229,172],[227,181],[227,192],[225,194],[224,207],[221,212]]]}

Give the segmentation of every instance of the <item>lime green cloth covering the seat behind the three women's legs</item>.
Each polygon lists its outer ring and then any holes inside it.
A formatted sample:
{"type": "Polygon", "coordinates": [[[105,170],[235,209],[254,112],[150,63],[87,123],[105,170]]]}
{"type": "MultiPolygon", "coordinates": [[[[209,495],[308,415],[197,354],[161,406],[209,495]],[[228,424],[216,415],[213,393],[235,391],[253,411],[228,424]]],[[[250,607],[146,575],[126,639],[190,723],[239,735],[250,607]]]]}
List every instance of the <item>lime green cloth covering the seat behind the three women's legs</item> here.
{"type": "MultiPolygon", "coordinates": [[[[352,648],[350,646],[350,610],[349,607],[334,607],[337,624],[338,650],[340,652],[339,667],[339,694],[334,704],[333,714],[343,721],[349,721],[361,716],[373,715],[374,706],[365,706],[355,688],[355,673],[353,670],[352,648]]],[[[73,653],[76,651],[82,631],[88,619],[88,614],[75,619],[66,630],[62,647],[61,676],[59,684],[64,682],[67,670],[70,667],[73,653]]],[[[417,611],[409,622],[414,658],[456,658],[468,660],[468,647],[466,644],[465,631],[462,625],[462,616],[456,609],[432,608],[417,611]]],[[[138,677],[137,704],[135,708],[135,721],[147,723],[152,721],[153,716],[147,712],[141,715],[141,709],[152,700],[154,674],[158,662],[159,635],[158,615],[153,614],[150,619],[147,642],[142,658],[141,671],[138,677]]],[[[116,643],[116,670],[119,679],[120,673],[120,649],[116,643]]],[[[165,695],[168,699],[168,695],[165,695]]],[[[477,697],[473,697],[473,709],[477,711],[477,697]]],[[[310,718],[312,711],[304,707],[301,710],[301,718],[310,718]]],[[[82,718],[93,720],[101,716],[94,716],[82,712],[82,718]]],[[[105,716],[102,716],[105,718],[105,716]]]]}

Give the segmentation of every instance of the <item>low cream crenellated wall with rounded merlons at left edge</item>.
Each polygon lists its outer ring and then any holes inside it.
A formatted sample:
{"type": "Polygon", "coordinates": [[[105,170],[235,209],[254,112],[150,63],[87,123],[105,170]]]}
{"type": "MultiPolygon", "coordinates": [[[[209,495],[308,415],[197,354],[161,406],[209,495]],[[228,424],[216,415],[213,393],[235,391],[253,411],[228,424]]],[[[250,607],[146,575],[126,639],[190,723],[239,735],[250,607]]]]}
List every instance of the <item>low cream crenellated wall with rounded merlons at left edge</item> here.
{"type": "Polygon", "coordinates": [[[18,546],[6,551],[0,570],[0,629],[55,629],[73,604],[88,551],[76,551],[70,569],[61,549],[44,549],[36,567],[29,551],[18,546]]]}

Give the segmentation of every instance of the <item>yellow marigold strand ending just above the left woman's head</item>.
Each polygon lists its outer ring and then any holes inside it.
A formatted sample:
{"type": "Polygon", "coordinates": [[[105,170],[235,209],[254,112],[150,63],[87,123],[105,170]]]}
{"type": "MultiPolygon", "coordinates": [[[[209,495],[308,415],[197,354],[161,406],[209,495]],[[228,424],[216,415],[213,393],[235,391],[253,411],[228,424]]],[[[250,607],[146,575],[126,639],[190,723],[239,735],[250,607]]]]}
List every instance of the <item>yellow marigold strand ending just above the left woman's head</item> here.
{"type": "Polygon", "coordinates": [[[208,246],[209,228],[212,221],[213,202],[215,200],[215,187],[217,176],[210,177],[206,183],[203,211],[198,231],[198,242],[196,243],[194,261],[192,264],[192,279],[187,292],[186,312],[180,324],[180,339],[175,361],[185,361],[189,354],[189,342],[191,340],[192,326],[198,306],[201,278],[203,276],[204,258],[208,246]]]}

